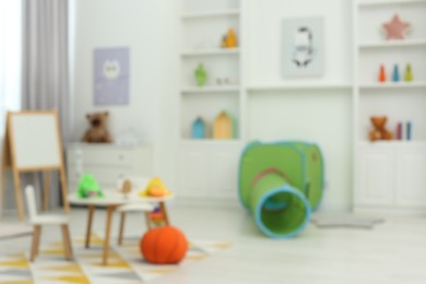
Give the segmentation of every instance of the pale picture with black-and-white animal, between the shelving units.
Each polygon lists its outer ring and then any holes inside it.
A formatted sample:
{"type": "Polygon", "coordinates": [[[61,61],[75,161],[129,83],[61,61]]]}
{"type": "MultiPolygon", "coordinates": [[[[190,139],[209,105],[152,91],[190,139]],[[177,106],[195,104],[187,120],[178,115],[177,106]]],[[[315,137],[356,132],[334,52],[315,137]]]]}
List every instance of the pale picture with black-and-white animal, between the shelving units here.
{"type": "Polygon", "coordinates": [[[285,19],[282,31],[283,75],[286,78],[323,75],[323,19],[285,19]]]}

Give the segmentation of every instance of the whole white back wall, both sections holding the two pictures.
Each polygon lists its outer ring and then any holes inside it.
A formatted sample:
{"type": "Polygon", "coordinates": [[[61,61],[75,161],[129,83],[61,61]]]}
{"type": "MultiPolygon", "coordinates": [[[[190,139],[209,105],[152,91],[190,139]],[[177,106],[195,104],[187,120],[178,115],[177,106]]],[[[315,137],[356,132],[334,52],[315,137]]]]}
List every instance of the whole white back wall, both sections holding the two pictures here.
{"type": "MultiPolygon", "coordinates": [[[[286,16],[322,15],[326,19],[326,74],[319,82],[351,82],[352,35],[350,0],[248,1],[248,84],[283,83],[281,78],[281,21],[286,16]]],[[[176,138],[180,36],[179,5],[175,0],[75,0],[75,131],[86,128],[85,114],[108,109],[110,129],[133,127],[156,145],[156,171],[177,180],[176,138]],[[114,19],[119,19],[115,22],[114,19]],[[129,46],[131,104],[93,105],[93,50],[129,46]]],[[[310,79],[309,81],[312,81],[310,79]]],[[[301,81],[304,82],[304,81],[301,81]]],[[[351,90],[257,92],[247,98],[248,140],[297,139],[318,142],[324,152],[328,189],[322,209],[347,210],[352,202],[351,90]]]]}

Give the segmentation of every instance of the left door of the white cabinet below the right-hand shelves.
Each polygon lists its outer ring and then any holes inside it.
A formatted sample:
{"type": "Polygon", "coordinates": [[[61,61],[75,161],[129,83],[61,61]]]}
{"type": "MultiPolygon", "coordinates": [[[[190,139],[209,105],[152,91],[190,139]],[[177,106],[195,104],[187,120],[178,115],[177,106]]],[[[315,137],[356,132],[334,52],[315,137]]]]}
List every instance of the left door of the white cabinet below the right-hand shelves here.
{"type": "Polygon", "coordinates": [[[393,203],[393,154],[390,149],[362,149],[359,156],[359,205],[391,205],[393,203]]]}

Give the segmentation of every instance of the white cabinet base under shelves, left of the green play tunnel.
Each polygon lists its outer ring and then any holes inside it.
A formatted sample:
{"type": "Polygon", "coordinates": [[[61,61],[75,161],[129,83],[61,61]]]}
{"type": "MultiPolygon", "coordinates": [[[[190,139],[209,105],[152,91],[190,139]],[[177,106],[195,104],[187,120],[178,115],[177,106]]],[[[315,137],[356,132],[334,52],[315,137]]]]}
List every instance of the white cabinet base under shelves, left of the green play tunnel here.
{"type": "Polygon", "coordinates": [[[179,197],[236,199],[240,151],[235,142],[184,143],[178,165],[179,197]]]}

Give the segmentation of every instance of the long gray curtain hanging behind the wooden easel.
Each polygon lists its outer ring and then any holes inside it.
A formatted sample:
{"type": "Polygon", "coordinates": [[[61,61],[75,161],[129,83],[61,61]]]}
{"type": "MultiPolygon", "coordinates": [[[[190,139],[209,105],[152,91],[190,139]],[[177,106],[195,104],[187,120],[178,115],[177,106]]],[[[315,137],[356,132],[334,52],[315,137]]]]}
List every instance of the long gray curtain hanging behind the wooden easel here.
{"type": "MultiPolygon", "coordinates": [[[[71,132],[68,0],[23,0],[22,109],[58,109],[63,142],[71,132]]],[[[40,187],[39,175],[25,184],[40,187]]],[[[52,176],[50,204],[58,205],[59,181],[52,176]]],[[[43,192],[39,190],[38,192],[43,192]]]]}

